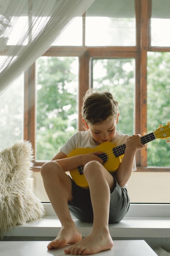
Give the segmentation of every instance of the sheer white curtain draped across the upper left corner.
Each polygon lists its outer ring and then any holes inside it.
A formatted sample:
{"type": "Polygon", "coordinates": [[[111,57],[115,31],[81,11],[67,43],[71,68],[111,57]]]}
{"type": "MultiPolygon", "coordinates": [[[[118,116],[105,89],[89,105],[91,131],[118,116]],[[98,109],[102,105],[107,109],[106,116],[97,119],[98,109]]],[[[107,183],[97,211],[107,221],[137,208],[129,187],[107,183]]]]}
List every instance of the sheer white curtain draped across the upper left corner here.
{"type": "Polygon", "coordinates": [[[0,0],[0,94],[95,0],[0,0]]]}

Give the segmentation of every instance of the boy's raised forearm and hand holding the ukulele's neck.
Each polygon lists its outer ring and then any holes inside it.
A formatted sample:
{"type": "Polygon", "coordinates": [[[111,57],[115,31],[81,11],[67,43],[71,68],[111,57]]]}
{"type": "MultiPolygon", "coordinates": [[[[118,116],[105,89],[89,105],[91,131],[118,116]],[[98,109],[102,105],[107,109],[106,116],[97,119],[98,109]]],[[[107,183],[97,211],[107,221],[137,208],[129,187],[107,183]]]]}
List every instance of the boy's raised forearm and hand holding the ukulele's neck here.
{"type": "Polygon", "coordinates": [[[126,149],[122,162],[117,169],[115,177],[120,186],[125,186],[132,173],[133,160],[137,150],[144,148],[141,135],[132,135],[126,140],[126,149]]]}

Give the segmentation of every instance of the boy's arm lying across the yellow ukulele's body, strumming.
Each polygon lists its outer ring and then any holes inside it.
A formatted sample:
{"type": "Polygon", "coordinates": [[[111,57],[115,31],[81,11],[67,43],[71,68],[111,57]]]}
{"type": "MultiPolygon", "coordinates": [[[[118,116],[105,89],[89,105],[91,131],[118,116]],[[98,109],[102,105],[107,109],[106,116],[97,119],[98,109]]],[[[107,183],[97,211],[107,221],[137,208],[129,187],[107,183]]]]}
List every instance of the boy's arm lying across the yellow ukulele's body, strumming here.
{"type": "Polygon", "coordinates": [[[85,154],[85,155],[76,155],[73,157],[67,157],[66,154],[60,151],[51,160],[60,164],[62,169],[66,172],[80,165],[84,166],[86,163],[91,162],[93,160],[96,160],[102,164],[103,160],[97,157],[97,155],[100,155],[101,153],[102,152],[94,152],[94,153],[85,154]]]}

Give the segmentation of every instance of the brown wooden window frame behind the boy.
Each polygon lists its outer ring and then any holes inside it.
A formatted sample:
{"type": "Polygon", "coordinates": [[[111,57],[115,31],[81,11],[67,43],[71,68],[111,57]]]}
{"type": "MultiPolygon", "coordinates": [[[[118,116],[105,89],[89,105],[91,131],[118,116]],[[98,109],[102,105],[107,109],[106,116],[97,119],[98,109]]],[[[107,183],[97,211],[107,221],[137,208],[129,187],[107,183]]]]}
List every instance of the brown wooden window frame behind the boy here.
{"type": "MultiPolygon", "coordinates": [[[[150,18],[152,0],[135,0],[136,46],[131,47],[86,47],[85,14],[83,15],[82,46],[52,46],[43,56],[77,56],[79,58],[78,113],[81,112],[82,98],[91,87],[91,60],[93,58],[134,58],[135,59],[135,134],[147,132],[147,53],[170,52],[170,47],[151,47],[150,18]]],[[[35,63],[24,73],[24,139],[32,143],[35,154],[35,63]]],[[[78,130],[82,130],[82,117],[78,117],[78,130]]],[[[170,171],[168,167],[147,167],[147,150],[136,154],[137,171],[170,171]]],[[[44,162],[34,161],[33,171],[40,171],[44,162]]]]}

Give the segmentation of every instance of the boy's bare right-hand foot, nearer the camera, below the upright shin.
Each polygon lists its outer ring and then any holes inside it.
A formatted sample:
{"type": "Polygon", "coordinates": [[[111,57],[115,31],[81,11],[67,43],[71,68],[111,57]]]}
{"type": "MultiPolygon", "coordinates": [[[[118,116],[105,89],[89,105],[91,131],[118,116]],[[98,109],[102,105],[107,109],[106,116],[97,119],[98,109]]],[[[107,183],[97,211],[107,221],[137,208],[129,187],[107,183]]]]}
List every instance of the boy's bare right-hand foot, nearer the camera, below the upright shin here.
{"type": "Polygon", "coordinates": [[[65,254],[88,255],[108,250],[112,247],[113,240],[108,232],[100,234],[91,233],[89,236],[86,236],[75,245],[65,249],[64,252],[65,254]]]}

